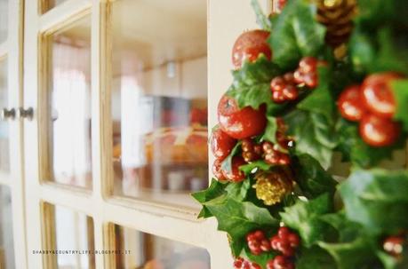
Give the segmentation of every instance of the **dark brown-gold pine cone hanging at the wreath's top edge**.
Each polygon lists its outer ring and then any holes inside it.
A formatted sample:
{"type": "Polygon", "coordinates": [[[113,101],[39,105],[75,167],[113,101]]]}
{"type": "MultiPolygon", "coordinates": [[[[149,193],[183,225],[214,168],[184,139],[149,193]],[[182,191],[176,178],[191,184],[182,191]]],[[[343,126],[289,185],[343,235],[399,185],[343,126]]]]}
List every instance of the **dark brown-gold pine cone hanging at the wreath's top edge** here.
{"type": "Polygon", "coordinates": [[[316,0],[316,2],[316,19],[326,27],[325,42],[337,50],[337,54],[345,54],[344,44],[354,28],[356,0],[316,0]]]}

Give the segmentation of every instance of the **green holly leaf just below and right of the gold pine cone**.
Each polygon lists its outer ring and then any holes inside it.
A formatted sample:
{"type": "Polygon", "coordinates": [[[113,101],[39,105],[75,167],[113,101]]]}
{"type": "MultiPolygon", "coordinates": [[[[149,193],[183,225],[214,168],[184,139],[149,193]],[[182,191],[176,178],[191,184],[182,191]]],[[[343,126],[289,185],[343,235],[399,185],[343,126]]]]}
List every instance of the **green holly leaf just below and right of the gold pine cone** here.
{"type": "Polygon", "coordinates": [[[282,221],[300,233],[302,244],[311,246],[316,241],[324,239],[327,225],[319,218],[332,210],[328,194],[323,194],[314,200],[299,200],[291,207],[286,207],[280,213],[282,221]]]}

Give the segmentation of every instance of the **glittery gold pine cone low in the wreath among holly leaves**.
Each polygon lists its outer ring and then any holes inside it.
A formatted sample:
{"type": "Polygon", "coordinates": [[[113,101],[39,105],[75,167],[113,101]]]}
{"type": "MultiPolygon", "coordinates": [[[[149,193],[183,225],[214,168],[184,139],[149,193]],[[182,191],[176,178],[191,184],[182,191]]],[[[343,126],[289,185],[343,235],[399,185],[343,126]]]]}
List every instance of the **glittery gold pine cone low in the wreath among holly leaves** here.
{"type": "Polygon", "coordinates": [[[292,178],[284,170],[272,172],[259,172],[256,176],[256,196],[266,205],[273,205],[281,202],[284,195],[292,192],[292,178]]]}

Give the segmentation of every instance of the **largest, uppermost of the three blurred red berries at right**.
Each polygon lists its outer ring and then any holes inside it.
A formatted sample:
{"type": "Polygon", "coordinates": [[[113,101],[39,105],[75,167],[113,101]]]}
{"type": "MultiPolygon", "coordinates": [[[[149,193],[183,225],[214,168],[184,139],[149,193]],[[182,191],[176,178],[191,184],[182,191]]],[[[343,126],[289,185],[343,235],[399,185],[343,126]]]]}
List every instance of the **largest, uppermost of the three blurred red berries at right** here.
{"type": "Polygon", "coordinates": [[[401,79],[396,73],[380,73],[365,78],[362,99],[365,107],[375,115],[392,118],[396,113],[396,100],[391,83],[401,79]]]}

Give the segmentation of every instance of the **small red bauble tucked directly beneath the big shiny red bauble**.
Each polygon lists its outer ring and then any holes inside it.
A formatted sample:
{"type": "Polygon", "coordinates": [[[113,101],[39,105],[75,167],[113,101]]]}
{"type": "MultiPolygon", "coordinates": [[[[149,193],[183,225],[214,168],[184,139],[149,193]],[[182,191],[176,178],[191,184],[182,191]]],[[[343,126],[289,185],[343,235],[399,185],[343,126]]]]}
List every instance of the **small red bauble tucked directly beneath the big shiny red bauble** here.
{"type": "Polygon", "coordinates": [[[212,131],[211,149],[215,158],[224,160],[231,153],[234,146],[236,146],[236,139],[228,136],[220,128],[212,131]]]}

